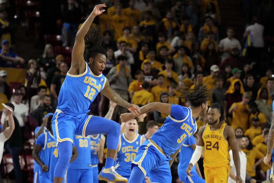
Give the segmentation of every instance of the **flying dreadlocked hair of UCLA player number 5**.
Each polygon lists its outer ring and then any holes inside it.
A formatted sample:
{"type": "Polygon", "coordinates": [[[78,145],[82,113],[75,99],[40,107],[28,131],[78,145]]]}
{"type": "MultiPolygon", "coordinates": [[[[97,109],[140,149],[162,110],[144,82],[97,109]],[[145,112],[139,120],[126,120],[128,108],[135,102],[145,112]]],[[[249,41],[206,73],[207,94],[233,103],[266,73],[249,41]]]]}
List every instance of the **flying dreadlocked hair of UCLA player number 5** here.
{"type": "Polygon", "coordinates": [[[186,98],[189,100],[190,105],[193,107],[199,107],[203,103],[206,104],[206,101],[209,100],[211,96],[212,89],[207,89],[206,83],[203,85],[201,81],[196,81],[194,79],[194,89],[187,88],[187,91],[180,90],[183,94],[180,98],[186,98]]]}

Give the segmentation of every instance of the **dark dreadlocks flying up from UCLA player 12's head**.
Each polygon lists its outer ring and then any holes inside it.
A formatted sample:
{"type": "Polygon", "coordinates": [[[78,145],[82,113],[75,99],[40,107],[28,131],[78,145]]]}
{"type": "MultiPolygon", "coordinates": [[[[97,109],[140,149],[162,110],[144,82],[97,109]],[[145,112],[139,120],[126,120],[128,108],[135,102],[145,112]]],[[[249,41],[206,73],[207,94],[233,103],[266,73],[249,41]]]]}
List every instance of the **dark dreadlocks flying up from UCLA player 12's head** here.
{"type": "Polygon", "coordinates": [[[92,24],[88,30],[88,33],[84,37],[85,49],[84,59],[88,62],[89,58],[95,58],[98,53],[106,55],[106,49],[104,45],[106,43],[105,38],[101,35],[100,25],[92,24]]]}

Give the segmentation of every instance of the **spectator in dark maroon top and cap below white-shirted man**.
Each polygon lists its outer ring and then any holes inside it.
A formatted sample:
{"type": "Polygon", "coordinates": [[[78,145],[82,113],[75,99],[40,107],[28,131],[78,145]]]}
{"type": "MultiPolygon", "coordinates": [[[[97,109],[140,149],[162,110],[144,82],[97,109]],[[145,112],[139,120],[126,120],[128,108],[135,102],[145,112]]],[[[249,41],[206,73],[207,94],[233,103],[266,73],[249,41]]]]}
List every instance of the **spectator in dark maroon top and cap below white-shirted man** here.
{"type": "Polygon", "coordinates": [[[240,50],[238,47],[232,47],[230,56],[224,59],[220,64],[221,71],[224,69],[225,65],[230,65],[231,68],[243,69],[243,60],[239,57],[240,50]]]}

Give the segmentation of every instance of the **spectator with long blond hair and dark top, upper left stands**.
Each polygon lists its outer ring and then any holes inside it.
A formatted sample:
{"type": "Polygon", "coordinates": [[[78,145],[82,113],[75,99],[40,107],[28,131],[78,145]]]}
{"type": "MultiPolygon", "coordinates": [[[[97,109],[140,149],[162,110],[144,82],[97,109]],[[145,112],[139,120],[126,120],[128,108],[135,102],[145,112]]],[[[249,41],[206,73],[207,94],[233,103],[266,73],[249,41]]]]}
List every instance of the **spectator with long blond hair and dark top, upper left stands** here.
{"type": "Polygon", "coordinates": [[[37,67],[40,71],[45,71],[47,73],[50,68],[54,67],[54,65],[55,59],[53,47],[51,44],[47,44],[43,55],[37,59],[37,67]]]}

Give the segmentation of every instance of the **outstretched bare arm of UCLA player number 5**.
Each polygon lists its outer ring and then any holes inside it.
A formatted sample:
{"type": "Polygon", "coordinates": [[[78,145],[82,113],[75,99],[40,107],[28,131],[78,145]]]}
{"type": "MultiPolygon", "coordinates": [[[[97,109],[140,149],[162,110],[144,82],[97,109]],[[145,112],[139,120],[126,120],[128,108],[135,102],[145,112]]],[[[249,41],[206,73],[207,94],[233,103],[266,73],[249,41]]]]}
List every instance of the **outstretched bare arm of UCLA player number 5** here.
{"type": "Polygon", "coordinates": [[[162,103],[162,102],[152,102],[152,103],[149,103],[149,104],[141,107],[140,114],[124,113],[124,114],[121,114],[120,119],[122,122],[127,122],[128,120],[131,120],[131,119],[135,118],[136,116],[139,116],[141,114],[148,113],[148,112],[151,112],[154,110],[170,115],[171,106],[172,106],[172,104],[167,104],[167,103],[162,103]]]}

